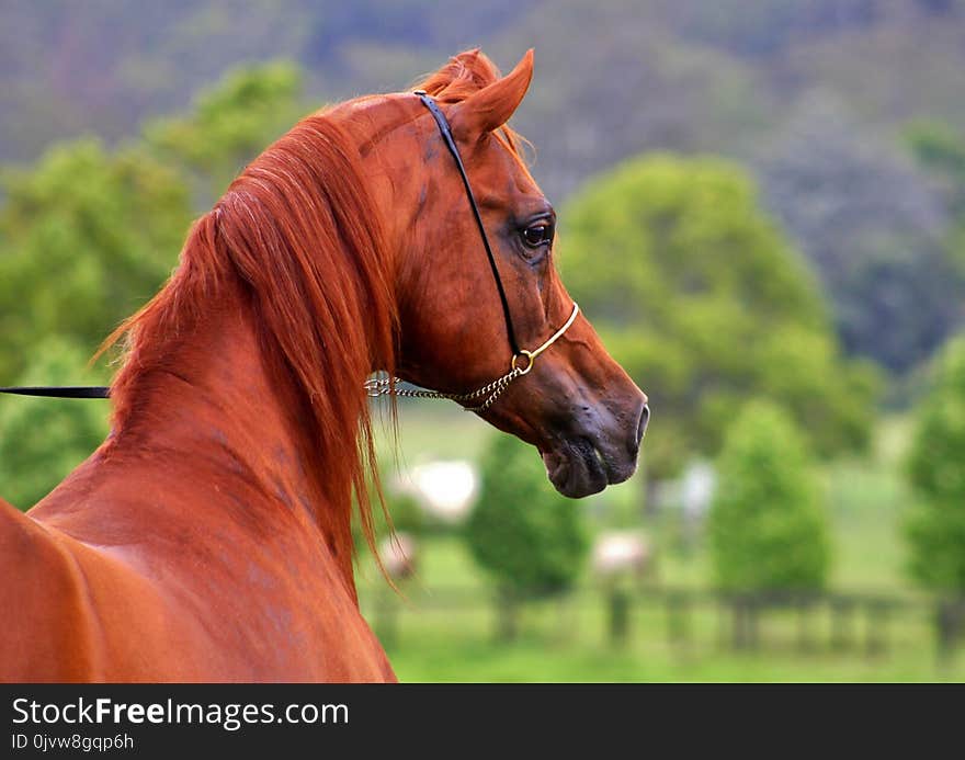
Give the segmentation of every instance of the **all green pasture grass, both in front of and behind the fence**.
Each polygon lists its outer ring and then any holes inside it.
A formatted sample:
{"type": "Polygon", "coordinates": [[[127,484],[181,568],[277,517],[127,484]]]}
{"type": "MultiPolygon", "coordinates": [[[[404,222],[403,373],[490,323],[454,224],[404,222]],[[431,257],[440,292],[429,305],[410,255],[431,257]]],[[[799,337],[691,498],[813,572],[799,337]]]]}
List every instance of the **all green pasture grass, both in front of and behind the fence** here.
{"type": "MultiPolygon", "coordinates": [[[[449,405],[400,405],[399,461],[475,458],[495,433],[472,415],[449,405]]],[[[886,619],[851,622],[850,648],[831,646],[827,610],[808,620],[810,645],[799,646],[799,619],[793,611],[762,619],[758,651],[735,651],[729,613],[711,599],[688,616],[689,635],[668,635],[668,612],[660,597],[634,597],[629,636],[622,645],[608,638],[606,597],[589,571],[565,600],[526,606],[518,640],[495,636],[491,590],[455,533],[422,542],[419,572],[397,597],[371,558],[359,564],[363,610],[383,637],[405,681],[934,681],[965,680],[965,653],[936,663],[931,606],[908,581],[900,525],[908,504],[900,462],[907,423],[883,423],[878,445],[866,460],[822,467],[828,513],[835,536],[831,590],[886,594],[907,608],[886,619]],[[879,650],[867,650],[867,637],[879,650]]],[[[391,453],[388,436],[383,458],[391,453]]],[[[535,453],[534,453],[535,455],[535,453]]],[[[625,522],[639,503],[631,481],[587,500],[590,523],[625,522]]],[[[679,549],[673,514],[644,514],[639,526],[659,548],[657,590],[706,589],[706,554],[697,545],[679,549]]],[[[965,648],[965,647],[963,647],[965,648]]]]}

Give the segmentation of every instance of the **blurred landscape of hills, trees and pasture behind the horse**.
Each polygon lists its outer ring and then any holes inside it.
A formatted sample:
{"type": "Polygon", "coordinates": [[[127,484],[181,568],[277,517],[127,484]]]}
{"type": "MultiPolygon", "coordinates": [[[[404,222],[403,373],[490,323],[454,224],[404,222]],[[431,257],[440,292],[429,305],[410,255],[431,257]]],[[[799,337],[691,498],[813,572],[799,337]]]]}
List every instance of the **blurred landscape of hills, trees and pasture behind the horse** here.
{"type": "MultiPolygon", "coordinates": [[[[0,384],[87,359],[293,122],[481,46],[558,262],[650,396],[568,501],[443,402],[382,440],[359,542],[402,680],[965,679],[965,1],[0,1],[0,384]]],[[[27,509],[106,405],[0,399],[27,509]]]]}

